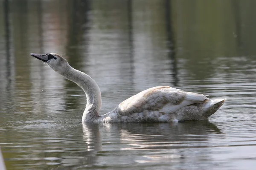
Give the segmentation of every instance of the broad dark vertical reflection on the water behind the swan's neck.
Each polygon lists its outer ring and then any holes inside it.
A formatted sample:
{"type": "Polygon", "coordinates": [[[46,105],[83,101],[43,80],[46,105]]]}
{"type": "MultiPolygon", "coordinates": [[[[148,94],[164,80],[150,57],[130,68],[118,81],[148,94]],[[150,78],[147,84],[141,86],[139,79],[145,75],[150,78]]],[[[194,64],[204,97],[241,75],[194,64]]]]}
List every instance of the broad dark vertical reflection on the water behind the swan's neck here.
{"type": "MultiPolygon", "coordinates": [[[[68,58],[70,65],[76,65],[76,69],[80,71],[87,72],[87,68],[81,63],[88,62],[88,31],[91,27],[88,19],[88,12],[90,9],[89,0],[72,0],[67,2],[67,9],[70,11],[69,24],[67,25],[67,45],[65,45],[65,58],[68,58]],[[86,54],[86,55],[83,55],[86,54]]],[[[65,81],[65,80],[64,80],[65,81]]],[[[70,87],[77,87],[73,82],[66,81],[64,89],[70,87]]],[[[79,103],[81,98],[72,97],[71,95],[76,95],[77,90],[64,91],[65,94],[65,109],[74,109],[77,105],[74,103],[79,103]]],[[[85,102],[85,99],[82,100],[85,102]]],[[[84,103],[82,106],[85,106],[84,103]]]]}

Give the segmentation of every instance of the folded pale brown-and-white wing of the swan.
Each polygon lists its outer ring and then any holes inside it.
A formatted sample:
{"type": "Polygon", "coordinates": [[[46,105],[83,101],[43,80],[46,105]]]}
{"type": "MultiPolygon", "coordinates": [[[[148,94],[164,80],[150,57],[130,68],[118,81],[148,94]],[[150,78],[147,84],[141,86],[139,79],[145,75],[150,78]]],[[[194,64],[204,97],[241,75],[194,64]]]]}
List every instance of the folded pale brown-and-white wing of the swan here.
{"type": "Polygon", "coordinates": [[[208,100],[206,95],[182,91],[169,86],[158,86],[142,91],[120,103],[113,112],[122,116],[132,113],[159,111],[165,114],[194,103],[208,100]]]}

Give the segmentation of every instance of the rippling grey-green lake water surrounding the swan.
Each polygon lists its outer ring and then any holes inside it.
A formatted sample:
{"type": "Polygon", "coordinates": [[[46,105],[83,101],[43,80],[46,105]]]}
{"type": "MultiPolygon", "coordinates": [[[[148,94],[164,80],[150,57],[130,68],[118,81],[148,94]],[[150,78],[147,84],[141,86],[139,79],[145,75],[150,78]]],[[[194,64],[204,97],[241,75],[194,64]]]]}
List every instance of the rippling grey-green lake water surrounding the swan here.
{"type": "Polygon", "coordinates": [[[256,1],[0,1],[0,147],[12,169],[256,166],[256,1]],[[207,122],[82,124],[83,91],[30,53],[56,52],[102,91],[101,113],[156,85],[227,98],[207,122]]]}

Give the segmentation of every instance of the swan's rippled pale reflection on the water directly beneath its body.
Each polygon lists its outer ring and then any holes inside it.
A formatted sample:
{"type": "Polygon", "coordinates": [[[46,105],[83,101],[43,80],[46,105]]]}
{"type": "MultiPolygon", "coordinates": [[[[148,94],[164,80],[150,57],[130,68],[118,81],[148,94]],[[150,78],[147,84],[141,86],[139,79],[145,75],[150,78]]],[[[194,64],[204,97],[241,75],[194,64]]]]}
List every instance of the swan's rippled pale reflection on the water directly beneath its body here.
{"type": "MultiPolygon", "coordinates": [[[[211,138],[224,138],[224,134],[210,122],[188,123],[151,123],[151,124],[105,124],[84,123],[84,141],[88,151],[93,150],[90,163],[101,164],[101,156],[118,157],[117,160],[126,159],[120,150],[133,155],[140,151],[140,156],[129,158],[128,162],[157,164],[166,161],[190,163],[194,150],[200,149],[201,156],[193,161],[211,161],[207,155],[212,150],[211,138]],[[108,141],[110,141],[108,143],[108,141]],[[113,146],[113,147],[112,147],[113,146]],[[111,148],[111,150],[109,150],[111,148]],[[193,149],[194,148],[194,149],[193,149]],[[103,152],[103,150],[105,150],[103,152]],[[155,151],[154,151],[155,150],[155,151]],[[107,152],[106,152],[107,151],[107,152]]],[[[115,160],[115,159],[113,159],[115,160]]],[[[128,164],[126,162],[126,164],[128,164]]],[[[104,162],[104,166],[110,166],[119,162],[104,162]]],[[[123,162],[121,164],[124,164],[123,162]]]]}

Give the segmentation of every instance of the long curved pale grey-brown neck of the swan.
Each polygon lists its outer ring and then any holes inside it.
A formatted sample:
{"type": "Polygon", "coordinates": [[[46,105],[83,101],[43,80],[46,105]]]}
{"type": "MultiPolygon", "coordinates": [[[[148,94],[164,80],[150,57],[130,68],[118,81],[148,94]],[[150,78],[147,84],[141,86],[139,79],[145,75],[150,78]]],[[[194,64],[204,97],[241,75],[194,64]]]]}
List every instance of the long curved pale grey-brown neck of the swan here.
{"type": "Polygon", "coordinates": [[[75,82],[79,85],[86,94],[86,108],[83,114],[83,122],[91,122],[96,117],[99,117],[99,110],[101,108],[102,99],[99,86],[87,74],[66,65],[63,71],[58,71],[66,79],[75,82]]]}

